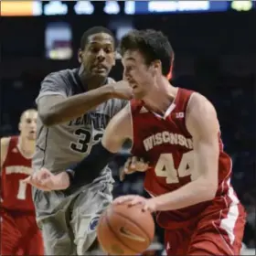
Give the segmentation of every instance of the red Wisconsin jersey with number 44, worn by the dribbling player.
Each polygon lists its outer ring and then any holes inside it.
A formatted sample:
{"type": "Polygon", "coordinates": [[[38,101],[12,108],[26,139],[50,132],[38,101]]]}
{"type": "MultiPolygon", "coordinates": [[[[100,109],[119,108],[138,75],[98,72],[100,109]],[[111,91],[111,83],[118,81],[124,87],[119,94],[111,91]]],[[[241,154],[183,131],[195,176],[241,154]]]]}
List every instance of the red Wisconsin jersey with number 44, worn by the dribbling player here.
{"type": "MultiPolygon", "coordinates": [[[[194,168],[193,140],[185,123],[187,103],[192,93],[179,88],[164,117],[148,111],[143,101],[131,101],[132,154],[143,157],[151,165],[145,172],[144,188],[153,197],[174,191],[198,176],[194,168]]],[[[231,202],[238,203],[238,199],[229,185],[231,160],[223,151],[220,136],[219,150],[219,188],[215,200],[219,199],[217,205],[225,208],[231,202]]],[[[165,229],[176,229],[196,219],[211,204],[212,201],[162,211],[157,215],[157,222],[165,229]]]]}

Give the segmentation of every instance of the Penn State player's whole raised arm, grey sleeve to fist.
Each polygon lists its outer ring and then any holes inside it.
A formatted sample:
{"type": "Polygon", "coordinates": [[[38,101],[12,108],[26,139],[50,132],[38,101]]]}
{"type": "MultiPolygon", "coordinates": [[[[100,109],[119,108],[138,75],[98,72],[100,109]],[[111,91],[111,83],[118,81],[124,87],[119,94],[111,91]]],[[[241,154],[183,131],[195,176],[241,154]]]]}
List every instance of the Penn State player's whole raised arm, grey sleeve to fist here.
{"type": "Polygon", "coordinates": [[[48,76],[37,99],[38,115],[45,125],[66,123],[112,98],[130,100],[132,89],[125,81],[67,97],[69,85],[58,75],[48,76]]]}

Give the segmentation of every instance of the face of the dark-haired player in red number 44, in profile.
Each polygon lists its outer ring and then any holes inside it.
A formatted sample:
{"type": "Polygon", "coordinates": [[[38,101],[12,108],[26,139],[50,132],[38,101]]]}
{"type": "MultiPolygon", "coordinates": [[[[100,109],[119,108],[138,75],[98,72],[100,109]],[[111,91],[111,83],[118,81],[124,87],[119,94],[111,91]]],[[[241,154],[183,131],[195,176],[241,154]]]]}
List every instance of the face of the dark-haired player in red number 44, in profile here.
{"type": "Polygon", "coordinates": [[[155,86],[153,66],[146,65],[138,50],[127,50],[123,55],[123,78],[133,88],[136,99],[143,99],[155,86]]]}

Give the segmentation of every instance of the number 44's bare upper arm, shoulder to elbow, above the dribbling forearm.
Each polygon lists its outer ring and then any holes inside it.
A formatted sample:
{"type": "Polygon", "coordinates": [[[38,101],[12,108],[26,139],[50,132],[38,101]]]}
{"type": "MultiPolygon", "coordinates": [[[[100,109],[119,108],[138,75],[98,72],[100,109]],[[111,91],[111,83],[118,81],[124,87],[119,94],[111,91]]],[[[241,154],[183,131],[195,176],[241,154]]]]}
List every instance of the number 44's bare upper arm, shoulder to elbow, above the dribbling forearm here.
{"type": "Polygon", "coordinates": [[[214,197],[218,187],[219,121],[214,106],[202,95],[194,93],[187,106],[187,131],[193,137],[195,169],[198,178],[214,197]]]}

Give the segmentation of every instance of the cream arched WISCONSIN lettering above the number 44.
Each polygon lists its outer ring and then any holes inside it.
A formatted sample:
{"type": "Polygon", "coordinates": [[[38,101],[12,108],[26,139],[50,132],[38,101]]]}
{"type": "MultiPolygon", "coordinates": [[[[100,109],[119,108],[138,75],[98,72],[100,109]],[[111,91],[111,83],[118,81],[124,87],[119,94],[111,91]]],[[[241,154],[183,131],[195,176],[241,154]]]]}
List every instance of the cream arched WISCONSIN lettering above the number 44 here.
{"type": "Polygon", "coordinates": [[[188,149],[193,149],[192,139],[187,139],[182,134],[169,133],[167,131],[162,133],[155,133],[144,139],[144,149],[149,151],[156,145],[161,144],[179,144],[185,146],[188,149]]]}

